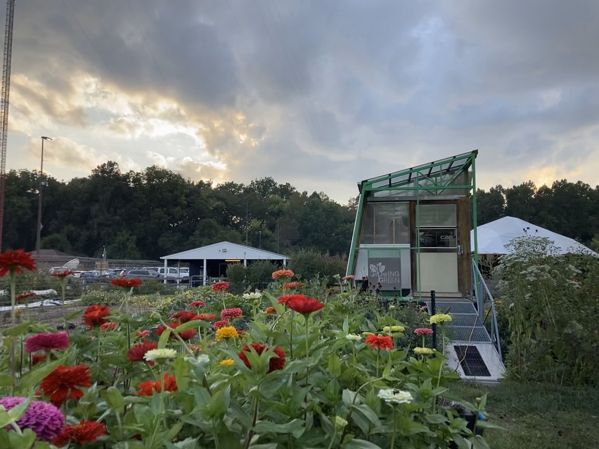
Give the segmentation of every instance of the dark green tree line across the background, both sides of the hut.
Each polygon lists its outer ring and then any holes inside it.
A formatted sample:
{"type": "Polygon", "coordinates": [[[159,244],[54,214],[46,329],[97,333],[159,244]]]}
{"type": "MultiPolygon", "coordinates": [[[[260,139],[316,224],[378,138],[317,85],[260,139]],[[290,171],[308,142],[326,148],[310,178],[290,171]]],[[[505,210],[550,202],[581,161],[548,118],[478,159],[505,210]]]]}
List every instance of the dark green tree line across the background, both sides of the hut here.
{"type": "MultiPolygon", "coordinates": [[[[323,192],[299,192],[267,177],[249,184],[192,181],[158,166],[120,171],[106,162],[68,182],[44,176],[41,247],[74,256],[157,260],[228,240],[289,254],[349,251],[357,198],[347,204],[323,192]]],[[[3,246],[34,250],[40,174],[6,178],[3,246]]],[[[599,186],[555,181],[536,187],[477,190],[483,225],[513,216],[599,248],[599,186]]]]}

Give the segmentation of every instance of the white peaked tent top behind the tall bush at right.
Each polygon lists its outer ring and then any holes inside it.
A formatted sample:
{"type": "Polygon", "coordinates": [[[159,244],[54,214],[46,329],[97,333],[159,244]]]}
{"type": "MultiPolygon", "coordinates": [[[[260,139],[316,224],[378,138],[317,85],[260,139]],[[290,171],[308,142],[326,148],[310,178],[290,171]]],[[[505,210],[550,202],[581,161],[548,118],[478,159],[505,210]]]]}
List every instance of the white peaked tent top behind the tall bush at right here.
{"type": "MultiPolygon", "coordinates": [[[[595,251],[576,240],[560,235],[556,232],[533,225],[515,217],[503,217],[477,229],[478,253],[482,254],[507,254],[506,245],[516,237],[525,235],[546,237],[558,248],[559,254],[582,252],[599,256],[595,251]]],[[[474,250],[474,230],[470,231],[470,248],[474,250]]]]}

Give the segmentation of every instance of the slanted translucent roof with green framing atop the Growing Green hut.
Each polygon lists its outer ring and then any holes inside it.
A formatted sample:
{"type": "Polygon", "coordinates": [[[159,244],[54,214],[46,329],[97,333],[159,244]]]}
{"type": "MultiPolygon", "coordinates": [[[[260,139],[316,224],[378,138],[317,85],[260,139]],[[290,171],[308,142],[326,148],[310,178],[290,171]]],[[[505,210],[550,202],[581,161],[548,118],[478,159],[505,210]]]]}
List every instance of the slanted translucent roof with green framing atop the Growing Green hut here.
{"type": "MultiPolygon", "coordinates": [[[[413,184],[417,177],[421,180],[429,180],[433,184],[438,184],[437,180],[447,177],[453,178],[461,172],[468,171],[477,154],[478,150],[469,151],[468,153],[458,154],[457,156],[446,157],[445,159],[435,160],[416,167],[380,175],[376,178],[362,181],[358,184],[358,189],[360,193],[362,193],[364,187],[382,188],[408,186],[413,184]]],[[[422,187],[430,188],[429,186],[422,187]]]]}

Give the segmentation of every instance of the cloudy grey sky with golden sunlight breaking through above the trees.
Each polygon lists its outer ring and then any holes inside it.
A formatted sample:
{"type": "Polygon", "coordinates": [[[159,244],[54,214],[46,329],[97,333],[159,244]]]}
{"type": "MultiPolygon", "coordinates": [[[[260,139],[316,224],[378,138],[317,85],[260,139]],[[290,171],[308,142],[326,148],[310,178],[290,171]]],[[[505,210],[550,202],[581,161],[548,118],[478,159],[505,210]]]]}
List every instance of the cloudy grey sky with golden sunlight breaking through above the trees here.
{"type": "MultiPolygon", "coordinates": [[[[599,184],[595,0],[19,0],[8,168],[356,182],[479,149],[479,185],[599,184]]],[[[4,23],[4,22],[2,22],[4,23]]]]}

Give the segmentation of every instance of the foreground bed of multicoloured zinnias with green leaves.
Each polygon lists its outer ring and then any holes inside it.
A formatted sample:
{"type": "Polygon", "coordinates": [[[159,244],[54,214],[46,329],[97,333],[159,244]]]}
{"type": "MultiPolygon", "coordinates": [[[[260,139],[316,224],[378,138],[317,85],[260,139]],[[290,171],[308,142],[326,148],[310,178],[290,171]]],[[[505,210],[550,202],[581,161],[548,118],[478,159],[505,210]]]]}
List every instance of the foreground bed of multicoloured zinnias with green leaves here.
{"type": "MultiPolygon", "coordinates": [[[[23,257],[0,271],[14,280],[32,269],[23,257]]],[[[0,354],[0,447],[488,447],[463,411],[491,427],[478,419],[486,396],[453,395],[456,375],[429,348],[419,311],[351,292],[319,297],[286,270],[264,292],[235,296],[219,283],[136,314],[134,281],[116,281],[120,307],[69,317],[78,323],[69,333],[13,314],[0,354]]],[[[450,319],[430,321],[443,330],[450,319]]]]}

